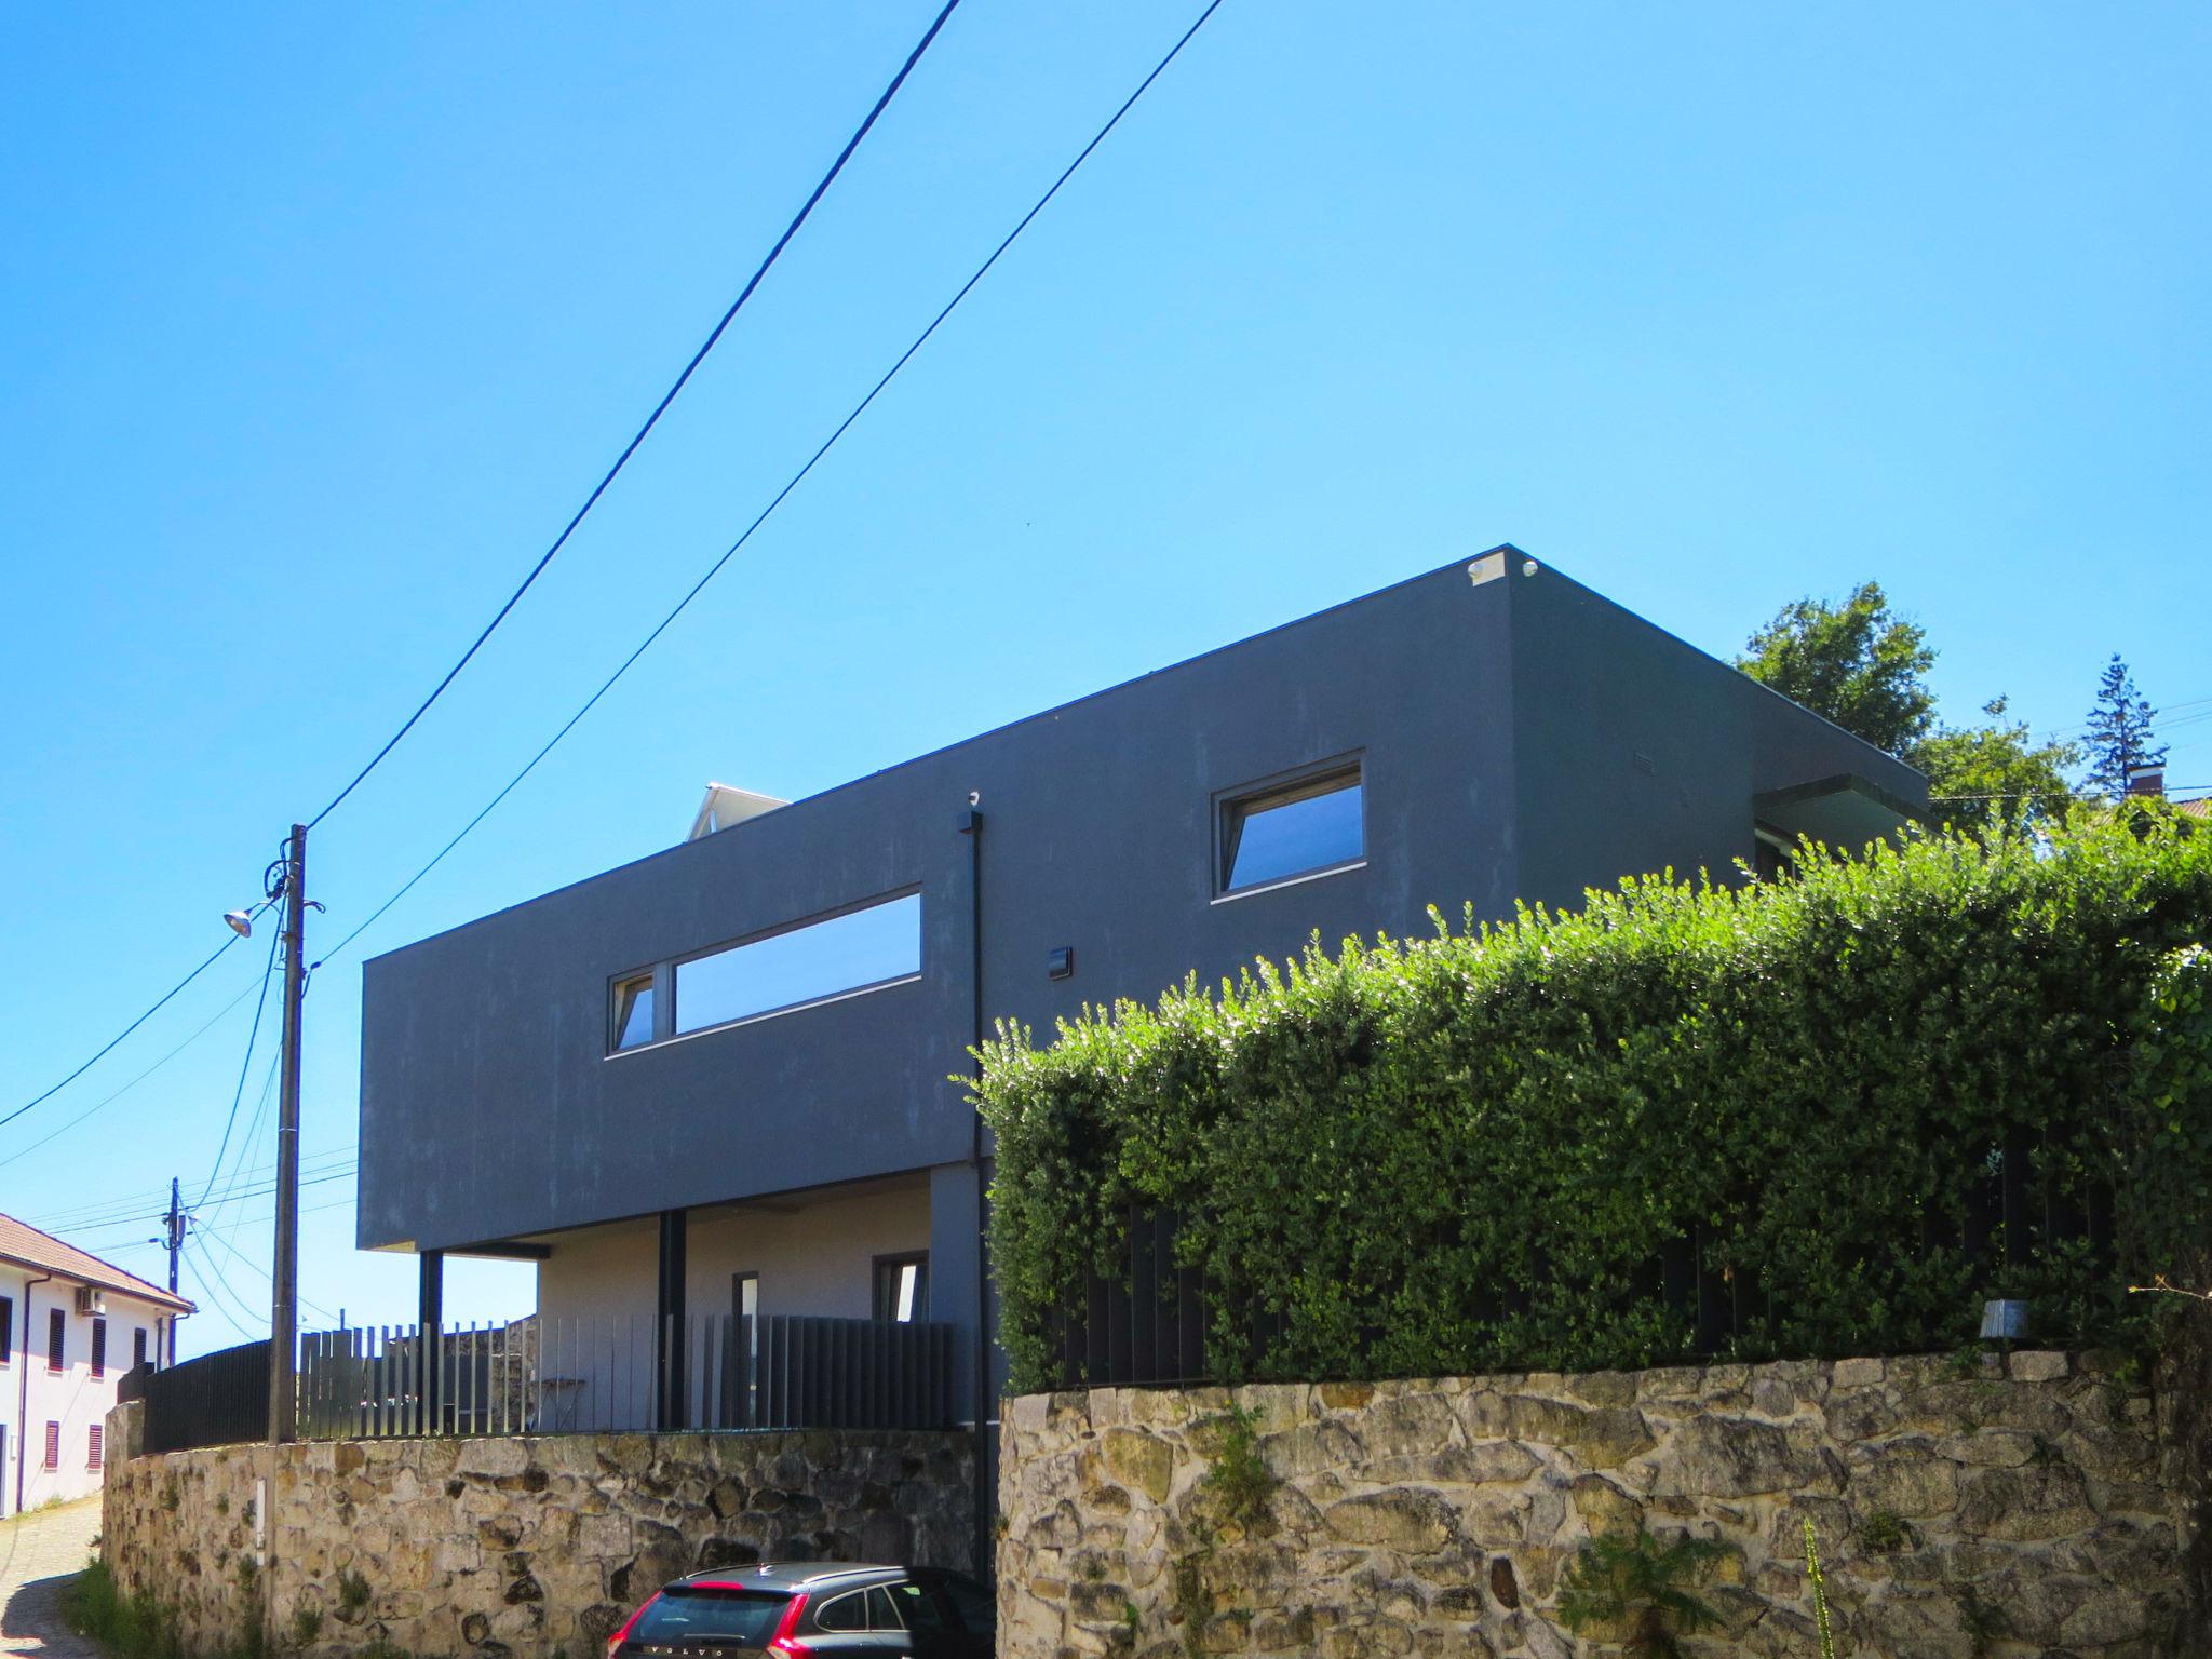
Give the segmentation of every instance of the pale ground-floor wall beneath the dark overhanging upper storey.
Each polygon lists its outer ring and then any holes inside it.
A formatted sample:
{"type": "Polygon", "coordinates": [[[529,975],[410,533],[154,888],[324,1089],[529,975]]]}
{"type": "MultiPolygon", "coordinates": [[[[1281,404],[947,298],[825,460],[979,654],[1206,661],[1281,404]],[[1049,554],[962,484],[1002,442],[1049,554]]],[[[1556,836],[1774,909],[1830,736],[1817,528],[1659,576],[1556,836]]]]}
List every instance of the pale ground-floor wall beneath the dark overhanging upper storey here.
{"type": "MultiPolygon", "coordinates": [[[[538,1263],[538,1340],[549,1429],[653,1420],[659,1228],[622,1221],[560,1234],[538,1263]]],[[[686,1312],[728,1316],[734,1276],[759,1274],[759,1312],[867,1318],[876,1256],[929,1248],[929,1183],[794,1201],[790,1210],[692,1210],[686,1312]]],[[[692,1365],[695,1387],[703,1365],[692,1365]]]]}

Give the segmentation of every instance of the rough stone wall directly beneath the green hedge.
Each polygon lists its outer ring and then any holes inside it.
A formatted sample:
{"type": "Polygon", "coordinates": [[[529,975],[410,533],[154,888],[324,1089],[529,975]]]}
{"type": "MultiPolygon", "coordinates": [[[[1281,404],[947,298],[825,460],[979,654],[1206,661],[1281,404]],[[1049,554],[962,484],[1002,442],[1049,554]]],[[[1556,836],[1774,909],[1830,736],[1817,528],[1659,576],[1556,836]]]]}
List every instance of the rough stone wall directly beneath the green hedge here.
{"type": "Polygon", "coordinates": [[[1803,1659],[1812,1520],[1840,1655],[2137,1659],[2177,1652],[2157,1471],[2148,1391],[2066,1354],[1040,1394],[1000,1655],[1610,1655],[1559,1582],[1641,1526],[1725,1546],[1688,1652],[1803,1659]]]}

